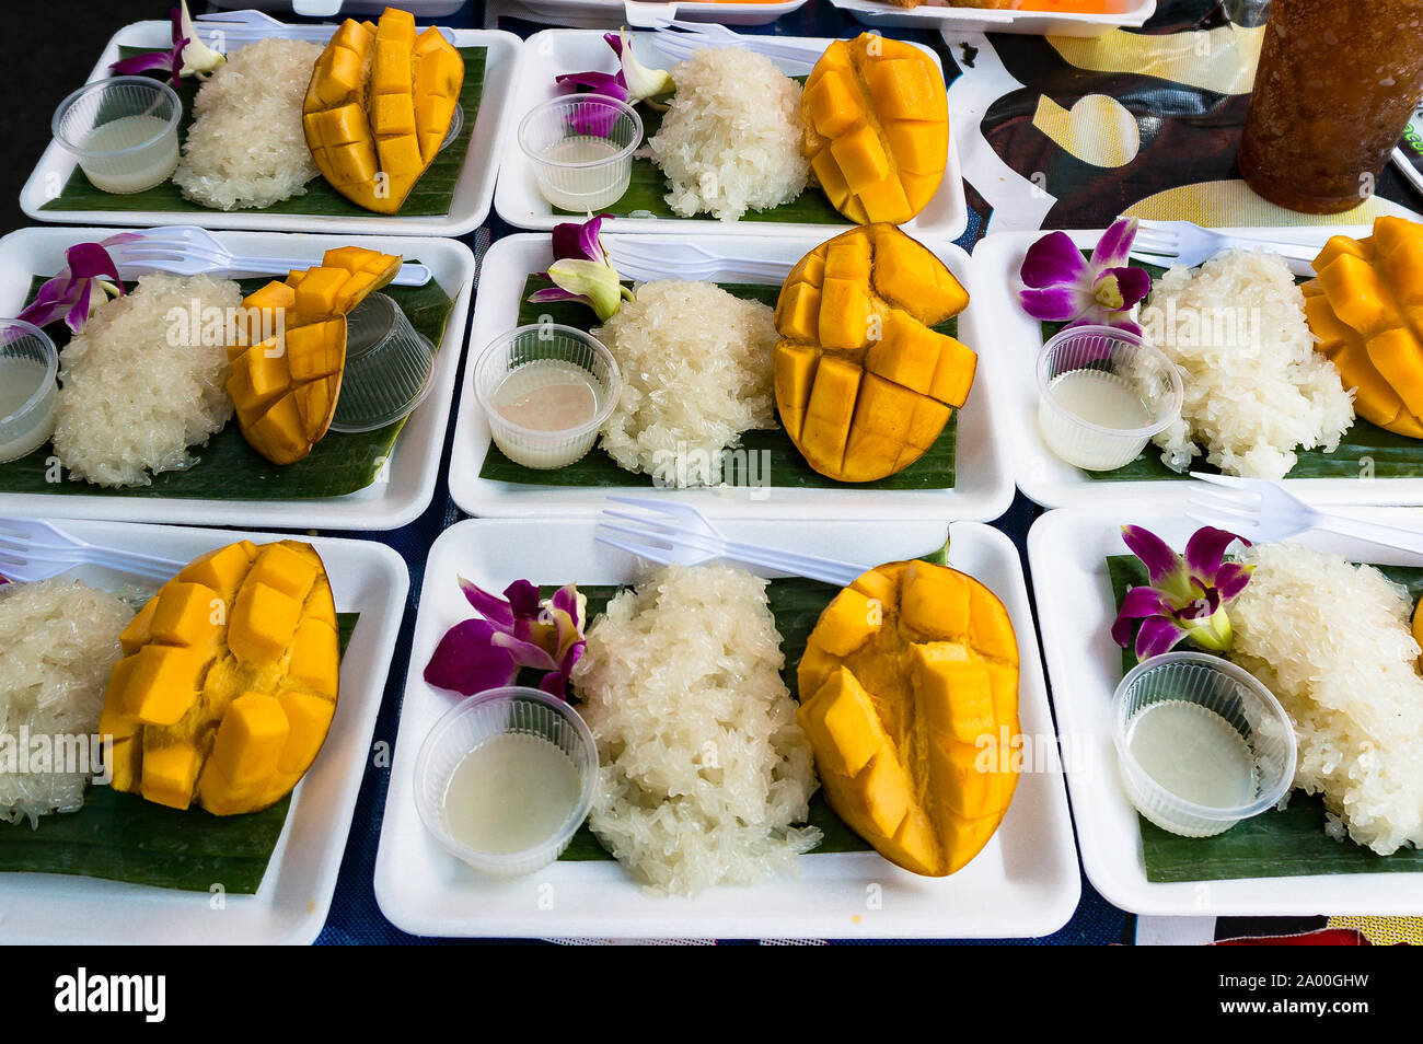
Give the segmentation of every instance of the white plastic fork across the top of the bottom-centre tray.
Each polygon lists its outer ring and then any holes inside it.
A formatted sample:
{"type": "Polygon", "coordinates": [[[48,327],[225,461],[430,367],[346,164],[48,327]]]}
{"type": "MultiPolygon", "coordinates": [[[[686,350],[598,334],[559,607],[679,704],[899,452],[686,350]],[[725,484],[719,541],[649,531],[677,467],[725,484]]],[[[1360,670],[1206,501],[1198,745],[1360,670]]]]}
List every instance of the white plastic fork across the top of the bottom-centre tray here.
{"type": "Polygon", "coordinates": [[[713,559],[730,559],[832,583],[837,587],[850,586],[867,570],[867,566],[850,562],[727,540],[706,515],[690,504],[639,496],[608,499],[638,508],[640,513],[605,508],[598,523],[598,540],[659,565],[696,566],[713,559]]]}

